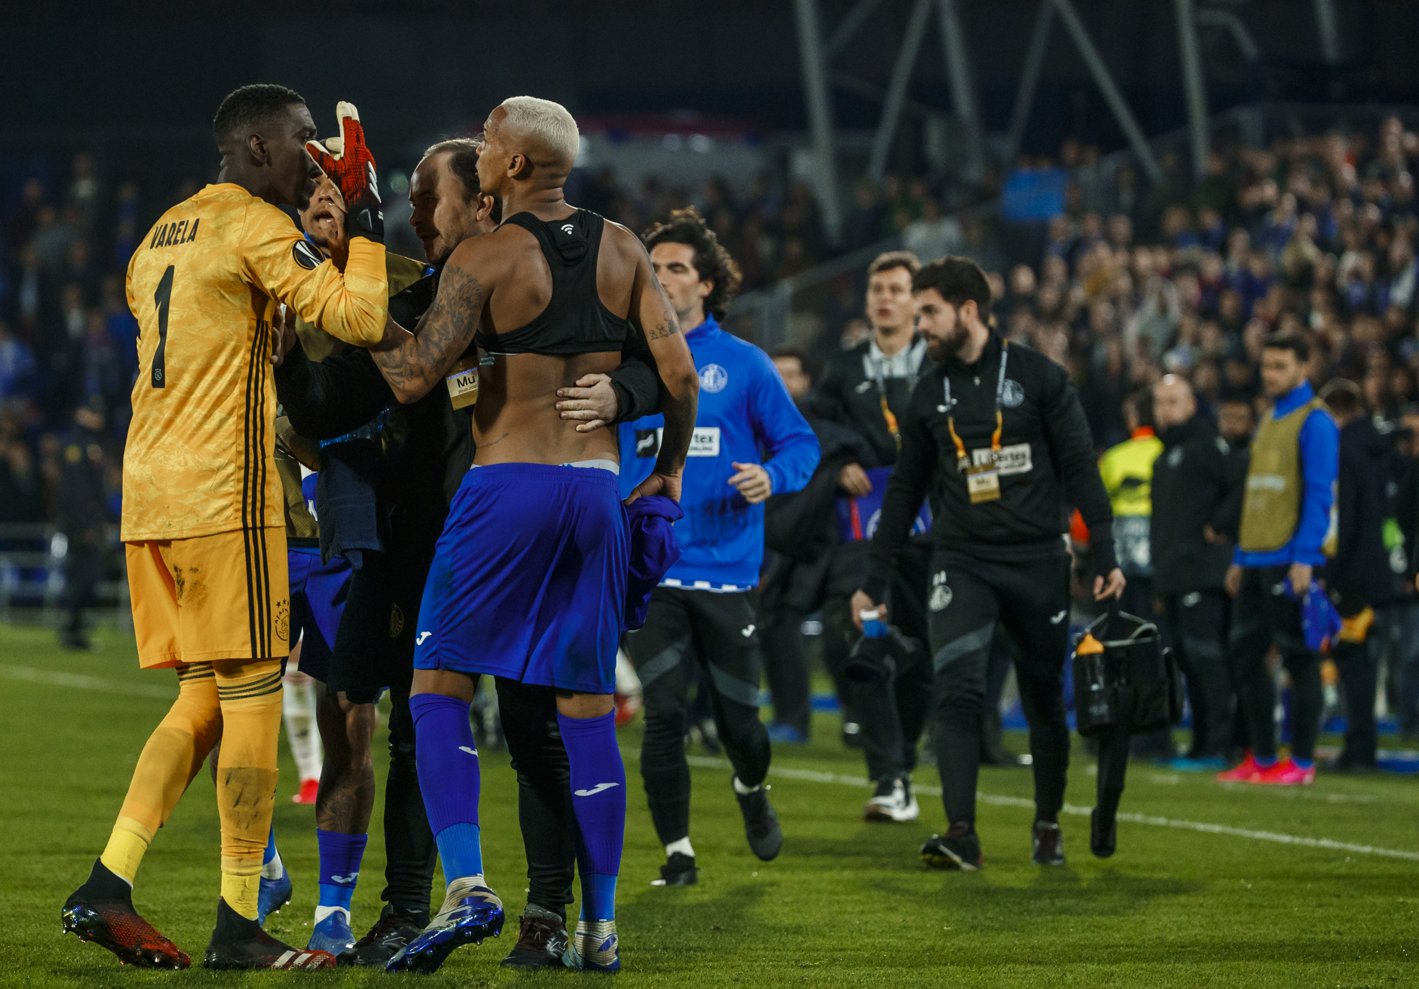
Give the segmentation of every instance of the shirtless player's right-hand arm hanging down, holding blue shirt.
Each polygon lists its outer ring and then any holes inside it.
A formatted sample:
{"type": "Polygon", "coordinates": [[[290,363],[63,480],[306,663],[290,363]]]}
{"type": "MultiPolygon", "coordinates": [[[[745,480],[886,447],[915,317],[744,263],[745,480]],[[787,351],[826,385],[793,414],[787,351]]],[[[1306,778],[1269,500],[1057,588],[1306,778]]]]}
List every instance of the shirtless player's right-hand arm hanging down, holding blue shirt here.
{"type": "Polygon", "coordinates": [[[631,491],[627,501],[641,495],[663,494],[680,501],[680,477],[685,470],[685,454],[695,429],[695,409],[700,403],[700,375],[690,355],[675,309],[650,267],[650,255],[636,241],[636,284],[631,289],[630,321],[650,346],[660,375],[660,410],[666,430],[660,441],[660,455],[650,477],[631,491]]]}

